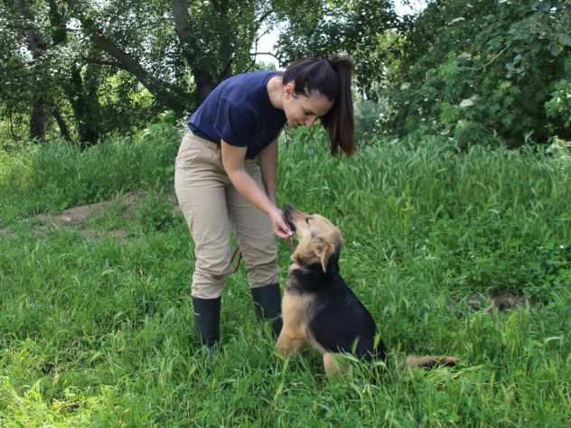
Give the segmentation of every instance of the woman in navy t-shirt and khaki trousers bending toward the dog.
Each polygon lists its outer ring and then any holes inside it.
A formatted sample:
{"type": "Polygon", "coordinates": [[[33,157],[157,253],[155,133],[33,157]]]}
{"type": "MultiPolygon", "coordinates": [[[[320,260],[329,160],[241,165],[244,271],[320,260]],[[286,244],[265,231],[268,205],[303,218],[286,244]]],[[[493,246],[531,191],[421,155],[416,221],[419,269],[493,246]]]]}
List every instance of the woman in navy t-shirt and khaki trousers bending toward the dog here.
{"type": "Polygon", "coordinates": [[[224,80],[188,122],[174,186],[195,245],[192,304],[201,341],[219,340],[220,296],[230,274],[230,231],[246,262],[257,315],[281,330],[274,235],[291,231],[276,206],[277,137],[321,119],[332,154],[351,155],[351,60],[298,60],[284,72],[224,80]]]}

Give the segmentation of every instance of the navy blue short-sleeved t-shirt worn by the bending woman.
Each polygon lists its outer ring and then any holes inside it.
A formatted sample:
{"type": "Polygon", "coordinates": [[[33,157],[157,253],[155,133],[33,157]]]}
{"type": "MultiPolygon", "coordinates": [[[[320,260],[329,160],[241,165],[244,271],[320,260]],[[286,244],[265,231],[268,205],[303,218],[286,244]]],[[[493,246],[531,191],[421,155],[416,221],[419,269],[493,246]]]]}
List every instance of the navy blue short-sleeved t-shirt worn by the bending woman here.
{"type": "Polygon", "coordinates": [[[286,125],[286,115],[267,94],[267,81],[277,74],[256,71],[222,81],[189,119],[192,133],[217,144],[224,140],[248,147],[246,158],[255,158],[286,125]]]}

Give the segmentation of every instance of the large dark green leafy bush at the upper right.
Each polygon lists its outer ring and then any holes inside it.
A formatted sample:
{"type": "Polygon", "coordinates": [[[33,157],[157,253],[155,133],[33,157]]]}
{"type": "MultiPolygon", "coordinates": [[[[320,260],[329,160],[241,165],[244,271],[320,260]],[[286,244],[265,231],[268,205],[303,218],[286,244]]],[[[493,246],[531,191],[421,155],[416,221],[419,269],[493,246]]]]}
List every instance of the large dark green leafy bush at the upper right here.
{"type": "Polygon", "coordinates": [[[510,146],[569,138],[569,28],[568,0],[430,3],[392,70],[388,126],[510,146]]]}

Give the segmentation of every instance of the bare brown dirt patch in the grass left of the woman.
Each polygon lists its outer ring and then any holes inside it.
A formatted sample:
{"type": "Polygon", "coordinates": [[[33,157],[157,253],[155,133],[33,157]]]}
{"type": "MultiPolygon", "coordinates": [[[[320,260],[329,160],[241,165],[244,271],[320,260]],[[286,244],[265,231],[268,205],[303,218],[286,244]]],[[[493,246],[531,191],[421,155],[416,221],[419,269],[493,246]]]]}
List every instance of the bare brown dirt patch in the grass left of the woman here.
{"type": "MultiPolygon", "coordinates": [[[[127,233],[124,230],[98,230],[89,227],[89,220],[98,218],[104,215],[111,206],[118,206],[121,209],[121,215],[124,219],[133,219],[136,212],[141,208],[143,200],[148,197],[146,191],[134,191],[118,196],[115,200],[106,200],[103,202],[96,202],[79,207],[65,209],[59,214],[46,215],[41,214],[38,216],[24,219],[24,223],[31,225],[33,232],[38,235],[45,235],[53,230],[61,228],[73,228],[77,230],[80,235],[88,240],[98,240],[104,237],[112,237],[120,241],[124,241],[127,233]]],[[[167,197],[169,202],[173,203],[173,207],[179,210],[177,200],[174,194],[167,197]]],[[[14,235],[10,228],[0,230],[0,236],[14,235]]]]}

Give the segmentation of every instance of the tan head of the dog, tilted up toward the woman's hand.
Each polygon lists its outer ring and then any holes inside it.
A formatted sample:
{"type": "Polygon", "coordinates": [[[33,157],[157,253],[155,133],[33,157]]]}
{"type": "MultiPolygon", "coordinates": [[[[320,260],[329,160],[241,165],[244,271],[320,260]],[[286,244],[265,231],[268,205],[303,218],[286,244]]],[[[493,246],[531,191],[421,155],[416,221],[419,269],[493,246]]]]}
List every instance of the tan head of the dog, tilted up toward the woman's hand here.
{"type": "Polygon", "coordinates": [[[323,273],[328,272],[330,261],[336,263],[341,252],[341,230],[319,214],[305,214],[289,206],[284,215],[298,241],[292,260],[304,267],[321,265],[323,273]]]}

